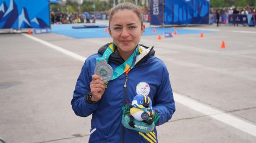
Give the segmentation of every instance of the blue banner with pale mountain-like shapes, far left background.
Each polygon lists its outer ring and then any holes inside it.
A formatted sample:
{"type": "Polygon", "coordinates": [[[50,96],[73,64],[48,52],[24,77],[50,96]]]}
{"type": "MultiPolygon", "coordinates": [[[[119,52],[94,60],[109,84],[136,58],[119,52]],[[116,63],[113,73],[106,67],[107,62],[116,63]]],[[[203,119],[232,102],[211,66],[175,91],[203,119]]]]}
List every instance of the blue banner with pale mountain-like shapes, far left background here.
{"type": "Polygon", "coordinates": [[[0,29],[50,28],[48,0],[0,0],[0,29]]]}

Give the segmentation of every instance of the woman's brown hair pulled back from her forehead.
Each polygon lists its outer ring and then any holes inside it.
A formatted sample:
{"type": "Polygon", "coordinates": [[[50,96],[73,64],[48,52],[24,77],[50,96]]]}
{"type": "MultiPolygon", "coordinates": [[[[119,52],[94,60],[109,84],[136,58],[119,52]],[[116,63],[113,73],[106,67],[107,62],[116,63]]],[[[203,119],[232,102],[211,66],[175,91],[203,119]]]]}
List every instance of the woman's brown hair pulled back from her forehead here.
{"type": "Polygon", "coordinates": [[[143,21],[142,21],[142,16],[144,11],[141,9],[141,7],[137,7],[135,6],[135,4],[129,3],[129,2],[122,2],[118,5],[116,5],[115,7],[112,7],[109,10],[109,26],[110,26],[110,20],[112,19],[113,15],[118,11],[118,10],[132,10],[133,12],[135,12],[138,16],[138,18],[141,20],[141,26],[143,25],[143,21]]]}

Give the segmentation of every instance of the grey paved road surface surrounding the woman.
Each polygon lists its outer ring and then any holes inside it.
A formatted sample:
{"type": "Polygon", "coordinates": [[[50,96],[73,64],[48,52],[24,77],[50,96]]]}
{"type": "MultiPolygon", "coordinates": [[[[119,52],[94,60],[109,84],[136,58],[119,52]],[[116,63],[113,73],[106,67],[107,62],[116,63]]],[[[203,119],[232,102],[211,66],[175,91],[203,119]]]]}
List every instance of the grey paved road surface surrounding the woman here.
{"type": "MultiPolygon", "coordinates": [[[[256,28],[179,28],[215,32],[141,38],[167,65],[175,92],[176,112],[157,127],[159,143],[256,143],[256,28]]],[[[0,34],[0,137],[7,143],[88,142],[91,117],[75,116],[70,104],[83,61],[53,47],[87,58],[109,41],[0,34]]]]}

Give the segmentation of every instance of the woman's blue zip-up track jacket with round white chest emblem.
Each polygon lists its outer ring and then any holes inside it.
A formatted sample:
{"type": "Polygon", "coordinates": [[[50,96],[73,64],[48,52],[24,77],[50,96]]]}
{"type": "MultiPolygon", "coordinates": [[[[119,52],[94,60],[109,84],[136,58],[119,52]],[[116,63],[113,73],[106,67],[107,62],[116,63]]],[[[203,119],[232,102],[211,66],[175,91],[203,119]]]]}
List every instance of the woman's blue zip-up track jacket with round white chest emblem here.
{"type": "MultiPolygon", "coordinates": [[[[128,74],[109,81],[99,102],[88,104],[85,95],[90,91],[96,58],[101,57],[109,43],[97,54],[88,57],[82,66],[71,101],[74,113],[80,117],[92,114],[89,143],[157,143],[156,129],[141,133],[126,129],[121,124],[122,107],[131,103],[138,93],[145,93],[152,100],[152,109],[161,117],[156,126],[168,122],[175,112],[175,102],[166,65],[154,56],[153,47],[141,45],[135,67],[128,74]],[[126,84],[126,86],[124,86],[126,84]]],[[[108,64],[113,69],[124,60],[117,52],[110,55],[108,64]]]]}

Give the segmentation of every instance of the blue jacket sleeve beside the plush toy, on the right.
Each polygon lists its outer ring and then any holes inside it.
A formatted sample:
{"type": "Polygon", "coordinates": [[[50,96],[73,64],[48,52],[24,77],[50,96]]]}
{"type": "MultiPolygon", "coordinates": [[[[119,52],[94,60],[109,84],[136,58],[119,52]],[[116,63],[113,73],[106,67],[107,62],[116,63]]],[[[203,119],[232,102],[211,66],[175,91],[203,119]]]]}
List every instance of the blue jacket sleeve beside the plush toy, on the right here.
{"type": "Polygon", "coordinates": [[[160,115],[158,122],[155,123],[156,126],[168,122],[175,112],[175,102],[166,66],[162,72],[162,82],[156,92],[152,107],[160,115]]]}

